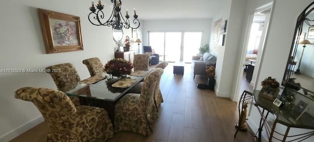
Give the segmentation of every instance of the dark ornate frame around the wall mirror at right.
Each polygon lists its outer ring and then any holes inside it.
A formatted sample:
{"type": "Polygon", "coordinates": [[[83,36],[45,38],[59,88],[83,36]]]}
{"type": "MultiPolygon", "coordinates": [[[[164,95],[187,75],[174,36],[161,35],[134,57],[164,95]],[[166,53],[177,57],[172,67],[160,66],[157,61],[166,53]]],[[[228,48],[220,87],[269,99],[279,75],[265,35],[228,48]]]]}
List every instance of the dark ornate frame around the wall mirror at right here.
{"type": "Polygon", "coordinates": [[[294,89],[296,91],[303,89],[303,91],[312,92],[312,94],[314,94],[314,92],[313,92],[314,90],[308,90],[309,88],[303,88],[301,85],[297,84],[297,81],[294,82],[293,78],[291,79],[290,76],[294,72],[293,70],[291,70],[291,65],[294,63],[296,50],[297,50],[298,43],[300,41],[300,36],[301,36],[302,30],[303,30],[302,29],[303,24],[308,24],[309,26],[314,26],[314,24],[312,24],[312,25],[310,24],[310,22],[314,23],[314,20],[310,20],[307,18],[307,16],[314,10],[313,4],[314,4],[314,2],[309,4],[302,11],[302,13],[299,15],[299,17],[297,19],[295,30],[294,30],[294,36],[293,36],[293,40],[292,40],[292,44],[291,44],[291,49],[290,49],[290,53],[289,53],[289,58],[287,61],[284,78],[283,78],[283,81],[281,83],[283,86],[289,87],[289,88],[294,89]],[[311,8],[311,9],[309,9],[309,8],[311,8]]]}

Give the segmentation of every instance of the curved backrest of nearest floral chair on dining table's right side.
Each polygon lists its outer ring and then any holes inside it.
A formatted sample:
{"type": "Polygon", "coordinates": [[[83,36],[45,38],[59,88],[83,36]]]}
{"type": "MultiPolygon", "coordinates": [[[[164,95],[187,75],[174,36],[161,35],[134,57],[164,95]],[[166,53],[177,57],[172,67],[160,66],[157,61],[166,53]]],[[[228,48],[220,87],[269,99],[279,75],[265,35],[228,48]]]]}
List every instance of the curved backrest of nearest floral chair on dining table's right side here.
{"type": "Polygon", "coordinates": [[[140,105],[143,109],[142,112],[146,112],[146,114],[151,114],[154,112],[153,109],[157,109],[154,103],[154,96],[156,91],[155,87],[157,81],[160,80],[162,73],[162,68],[156,68],[151,71],[144,79],[140,96],[140,105]]]}

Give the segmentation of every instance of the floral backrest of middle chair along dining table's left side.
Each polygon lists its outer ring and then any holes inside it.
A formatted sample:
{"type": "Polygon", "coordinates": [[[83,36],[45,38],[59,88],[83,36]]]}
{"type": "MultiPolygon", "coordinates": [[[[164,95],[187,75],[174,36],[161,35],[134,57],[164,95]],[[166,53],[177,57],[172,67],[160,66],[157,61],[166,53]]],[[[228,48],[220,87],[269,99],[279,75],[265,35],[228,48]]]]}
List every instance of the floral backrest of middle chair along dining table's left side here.
{"type": "Polygon", "coordinates": [[[72,63],[61,63],[46,67],[49,70],[58,90],[67,92],[78,85],[80,81],[77,70],[72,63]]]}

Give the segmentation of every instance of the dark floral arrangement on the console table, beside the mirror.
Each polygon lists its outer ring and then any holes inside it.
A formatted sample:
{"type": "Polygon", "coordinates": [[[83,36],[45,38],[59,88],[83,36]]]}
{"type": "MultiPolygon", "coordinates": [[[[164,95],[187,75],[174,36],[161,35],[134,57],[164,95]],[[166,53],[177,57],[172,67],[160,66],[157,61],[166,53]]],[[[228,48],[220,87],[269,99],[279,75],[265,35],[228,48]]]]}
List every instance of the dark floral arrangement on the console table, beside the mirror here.
{"type": "Polygon", "coordinates": [[[279,93],[279,82],[276,79],[272,79],[271,77],[266,78],[261,82],[262,90],[260,95],[269,99],[275,100],[279,93]]]}

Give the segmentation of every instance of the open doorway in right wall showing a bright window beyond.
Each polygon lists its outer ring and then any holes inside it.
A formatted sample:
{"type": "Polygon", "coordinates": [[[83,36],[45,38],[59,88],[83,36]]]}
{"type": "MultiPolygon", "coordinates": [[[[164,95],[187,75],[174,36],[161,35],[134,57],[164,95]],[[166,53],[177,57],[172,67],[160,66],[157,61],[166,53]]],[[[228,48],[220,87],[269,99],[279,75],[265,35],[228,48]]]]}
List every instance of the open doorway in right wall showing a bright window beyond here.
{"type": "MultiPolygon", "coordinates": [[[[246,41],[243,50],[243,66],[244,69],[238,75],[237,94],[242,94],[244,90],[252,90],[255,88],[256,79],[259,71],[259,65],[262,57],[264,41],[267,35],[267,26],[270,18],[271,6],[263,10],[257,11],[250,16],[250,24],[246,34],[246,41]],[[249,68],[249,69],[248,69],[249,68]]],[[[240,95],[235,100],[239,100],[240,95]]]]}

